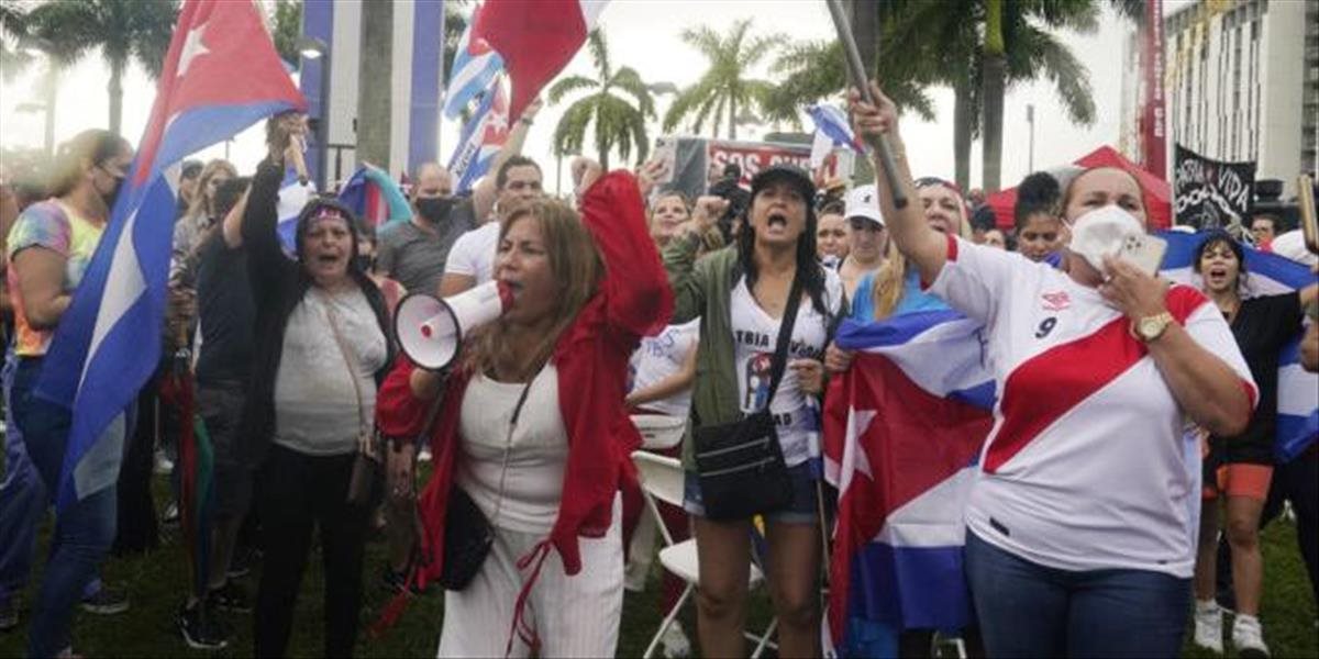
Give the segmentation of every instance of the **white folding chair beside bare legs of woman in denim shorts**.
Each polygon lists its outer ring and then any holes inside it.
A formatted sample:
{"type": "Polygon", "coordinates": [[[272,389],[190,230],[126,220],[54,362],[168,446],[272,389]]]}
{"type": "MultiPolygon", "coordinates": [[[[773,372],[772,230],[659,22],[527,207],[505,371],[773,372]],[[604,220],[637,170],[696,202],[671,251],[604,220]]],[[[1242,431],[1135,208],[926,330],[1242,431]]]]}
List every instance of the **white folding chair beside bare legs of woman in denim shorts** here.
{"type": "MultiPolygon", "coordinates": [[[[650,645],[646,646],[646,651],[642,655],[645,659],[654,656],[656,648],[660,646],[660,639],[663,633],[669,630],[673,621],[678,618],[678,612],[682,610],[682,605],[687,604],[691,593],[700,585],[700,563],[696,559],[696,540],[689,539],[674,544],[673,536],[669,535],[669,530],[663,526],[663,518],[660,517],[660,509],[657,501],[663,501],[678,507],[682,507],[682,494],[683,494],[683,472],[682,463],[674,457],[665,457],[654,455],[646,451],[634,451],[632,453],[632,461],[637,465],[637,472],[641,474],[641,494],[645,498],[646,507],[650,510],[650,515],[658,525],[660,536],[663,538],[663,548],[660,550],[660,564],[665,569],[673,572],[679,579],[687,583],[683,588],[682,596],[678,597],[678,602],[673,605],[669,610],[663,622],[660,623],[660,629],[656,630],[654,638],[650,639],[650,645]]],[[[765,580],[765,575],[758,567],[751,564],[747,575],[748,589],[756,588],[761,581],[765,580]]],[[[774,629],[778,626],[778,618],[776,617],[769,622],[769,627],[761,635],[745,633],[747,639],[756,643],[756,650],[752,652],[752,658],[758,658],[766,647],[778,650],[778,646],[770,642],[774,635],[774,629]]]]}

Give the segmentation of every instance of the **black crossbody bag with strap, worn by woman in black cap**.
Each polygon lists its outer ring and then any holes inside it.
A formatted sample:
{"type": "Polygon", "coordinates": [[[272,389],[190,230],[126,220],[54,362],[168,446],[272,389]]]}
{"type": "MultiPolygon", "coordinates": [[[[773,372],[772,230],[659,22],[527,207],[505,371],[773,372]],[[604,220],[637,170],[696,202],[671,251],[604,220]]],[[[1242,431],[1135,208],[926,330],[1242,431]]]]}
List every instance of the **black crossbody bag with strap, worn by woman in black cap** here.
{"type": "Polygon", "coordinates": [[[778,326],[765,407],[739,420],[716,426],[700,426],[698,419],[698,427],[692,431],[700,500],[708,519],[747,519],[781,510],[793,501],[783,447],[778,443],[774,415],[769,407],[787,368],[787,347],[793,340],[801,299],[802,278],[798,274],[793,278],[787,307],[778,326]]]}

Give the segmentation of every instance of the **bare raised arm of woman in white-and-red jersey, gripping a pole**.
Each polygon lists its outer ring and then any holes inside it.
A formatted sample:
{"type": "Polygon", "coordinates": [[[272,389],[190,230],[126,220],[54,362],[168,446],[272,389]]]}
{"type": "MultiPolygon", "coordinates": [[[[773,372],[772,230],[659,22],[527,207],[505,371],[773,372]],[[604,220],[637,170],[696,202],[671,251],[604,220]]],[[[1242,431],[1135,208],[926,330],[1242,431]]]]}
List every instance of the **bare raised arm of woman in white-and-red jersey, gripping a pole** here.
{"type": "Polygon", "coordinates": [[[917,265],[922,281],[933,282],[947,261],[948,239],[930,228],[917,203],[915,183],[911,181],[911,170],[906,161],[906,146],[902,144],[902,134],[898,133],[897,107],[874,83],[871,83],[871,95],[874,96],[873,105],[864,103],[856,90],[848,94],[853,129],[861,138],[876,134],[888,137],[893,162],[898,169],[894,174],[907,198],[905,208],[893,207],[893,191],[889,190],[888,178],[882,175],[884,165],[874,159],[880,212],[898,250],[917,265]]]}

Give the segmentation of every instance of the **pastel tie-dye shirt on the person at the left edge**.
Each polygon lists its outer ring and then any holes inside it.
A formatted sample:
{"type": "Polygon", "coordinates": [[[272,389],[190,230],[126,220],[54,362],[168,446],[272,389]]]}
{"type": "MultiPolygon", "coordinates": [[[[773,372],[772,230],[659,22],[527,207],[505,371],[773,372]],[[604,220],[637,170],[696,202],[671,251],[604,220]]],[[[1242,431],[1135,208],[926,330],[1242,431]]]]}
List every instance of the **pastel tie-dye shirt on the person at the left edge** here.
{"type": "Polygon", "coordinates": [[[91,262],[91,254],[100,243],[104,227],[98,227],[74,208],[58,199],[49,199],[29,206],[9,229],[9,269],[8,286],[13,301],[15,353],[20,357],[40,357],[50,347],[53,330],[34,330],[28,324],[28,314],[22,308],[22,295],[18,294],[18,270],[13,268],[13,257],[22,249],[42,246],[66,258],[65,293],[73,293],[82,282],[83,273],[91,262]]]}

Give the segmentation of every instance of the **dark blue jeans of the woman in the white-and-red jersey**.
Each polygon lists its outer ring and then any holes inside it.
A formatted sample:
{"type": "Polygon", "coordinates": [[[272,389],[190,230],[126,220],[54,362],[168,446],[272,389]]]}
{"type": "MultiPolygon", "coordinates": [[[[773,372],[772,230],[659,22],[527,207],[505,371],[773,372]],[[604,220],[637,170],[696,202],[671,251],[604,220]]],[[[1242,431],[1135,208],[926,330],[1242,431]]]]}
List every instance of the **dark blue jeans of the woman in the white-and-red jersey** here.
{"type": "Polygon", "coordinates": [[[1190,579],[1049,568],[969,530],[966,567],[989,656],[1175,658],[1182,650],[1190,579]]]}

